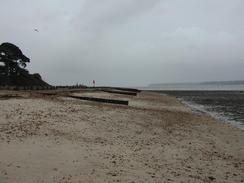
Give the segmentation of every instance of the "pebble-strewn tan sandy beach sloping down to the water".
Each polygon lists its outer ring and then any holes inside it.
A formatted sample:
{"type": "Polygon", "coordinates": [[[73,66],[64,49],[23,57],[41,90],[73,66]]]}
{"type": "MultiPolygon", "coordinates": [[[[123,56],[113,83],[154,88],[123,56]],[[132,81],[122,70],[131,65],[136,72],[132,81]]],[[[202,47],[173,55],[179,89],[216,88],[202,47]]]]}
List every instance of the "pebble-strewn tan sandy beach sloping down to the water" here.
{"type": "Polygon", "coordinates": [[[244,133],[175,98],[0,100],[0,182],[243,182],[244,133]]]}

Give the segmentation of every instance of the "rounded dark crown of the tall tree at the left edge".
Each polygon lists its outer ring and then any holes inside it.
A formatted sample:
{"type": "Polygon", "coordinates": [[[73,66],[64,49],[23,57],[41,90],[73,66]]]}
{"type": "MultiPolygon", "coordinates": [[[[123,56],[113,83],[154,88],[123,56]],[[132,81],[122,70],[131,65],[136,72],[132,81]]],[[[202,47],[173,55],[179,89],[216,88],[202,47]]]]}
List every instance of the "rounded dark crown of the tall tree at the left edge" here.
{"type": "Polygon", "coordinates": [[[2,43],[0,45],[0,75],[19,75],[25,70],[26,63],[30,59],[26,57],[22,51],[12,43],[2,43]]]}

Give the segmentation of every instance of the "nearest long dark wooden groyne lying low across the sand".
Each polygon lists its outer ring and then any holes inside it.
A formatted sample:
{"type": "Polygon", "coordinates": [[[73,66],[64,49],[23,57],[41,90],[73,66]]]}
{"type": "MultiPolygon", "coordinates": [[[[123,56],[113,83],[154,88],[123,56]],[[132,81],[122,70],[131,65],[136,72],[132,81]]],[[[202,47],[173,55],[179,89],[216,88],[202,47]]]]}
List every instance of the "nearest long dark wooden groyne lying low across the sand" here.
{"type": "Polygon", "coordinates": [[[73,96],[73,95],[70,95],[68,97],[80,99],[80,100],[94,101],[94,102],[129,105],[129,101],[126,101],[126,100],[115,100],[115,99],[94,98],[94,97],[80,97],[80,96],[73,96]]]}

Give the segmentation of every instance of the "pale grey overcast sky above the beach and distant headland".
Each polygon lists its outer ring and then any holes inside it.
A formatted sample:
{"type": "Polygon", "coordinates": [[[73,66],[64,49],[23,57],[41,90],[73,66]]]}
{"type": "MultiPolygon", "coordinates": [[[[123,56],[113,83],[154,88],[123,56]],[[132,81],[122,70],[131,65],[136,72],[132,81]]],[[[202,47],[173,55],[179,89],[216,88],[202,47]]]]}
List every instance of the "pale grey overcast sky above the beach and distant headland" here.
{"type": "Polygon", "coordinates": [[[0,17],[50,84],[244,79],[243,0],[1,0],[0,17]]]}

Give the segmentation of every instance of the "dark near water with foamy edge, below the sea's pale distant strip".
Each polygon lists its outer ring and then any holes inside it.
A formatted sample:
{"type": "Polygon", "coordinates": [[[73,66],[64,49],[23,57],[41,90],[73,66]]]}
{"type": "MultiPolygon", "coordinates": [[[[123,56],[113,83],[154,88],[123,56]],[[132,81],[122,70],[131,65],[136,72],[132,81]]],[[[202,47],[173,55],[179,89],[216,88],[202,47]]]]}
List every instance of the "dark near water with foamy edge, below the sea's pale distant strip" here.
{"type": "Polygon", "coordinates": [[[244,91],[162,91],[193,110],[244,130],[244,91]]]}

